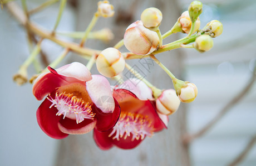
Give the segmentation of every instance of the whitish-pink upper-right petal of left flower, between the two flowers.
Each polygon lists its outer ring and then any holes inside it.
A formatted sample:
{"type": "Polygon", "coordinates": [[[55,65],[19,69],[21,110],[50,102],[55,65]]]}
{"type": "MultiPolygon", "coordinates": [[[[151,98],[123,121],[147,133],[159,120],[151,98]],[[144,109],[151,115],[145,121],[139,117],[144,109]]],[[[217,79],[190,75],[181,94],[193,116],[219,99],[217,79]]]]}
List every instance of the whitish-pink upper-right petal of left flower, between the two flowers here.
{"type": "Polygon", "coordinates": [[[104,113],[112,113],[115,101],[112,96],[109,81],[104,76],[92,75],[92,80],[86,82],[86,90],[95,105],[104,113]]]}

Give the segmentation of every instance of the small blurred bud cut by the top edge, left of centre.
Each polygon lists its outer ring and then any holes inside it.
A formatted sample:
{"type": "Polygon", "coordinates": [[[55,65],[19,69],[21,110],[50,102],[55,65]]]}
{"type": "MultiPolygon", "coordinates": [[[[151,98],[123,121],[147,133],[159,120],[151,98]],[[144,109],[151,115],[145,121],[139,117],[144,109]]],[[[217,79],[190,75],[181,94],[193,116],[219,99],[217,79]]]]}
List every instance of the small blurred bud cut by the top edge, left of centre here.
{"type": "Polygon", "coordinates": [[[98,14],[102,17],[112,17],[114,15],[114,7],[109,4],[109,1],[98,2],[98,14]]]}

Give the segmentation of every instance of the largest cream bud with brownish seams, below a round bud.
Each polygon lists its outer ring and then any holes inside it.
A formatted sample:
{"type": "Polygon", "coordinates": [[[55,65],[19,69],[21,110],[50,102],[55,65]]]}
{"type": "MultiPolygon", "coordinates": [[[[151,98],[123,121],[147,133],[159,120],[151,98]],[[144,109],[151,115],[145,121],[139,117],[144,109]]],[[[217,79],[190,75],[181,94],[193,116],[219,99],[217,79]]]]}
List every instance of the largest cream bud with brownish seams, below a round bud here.
{"type": "Polygon", "coordinates": [[[125,31],[124,45],[134,54],[150,54],[156,50],[158,44],[159,37],[157,33],[145,28],[141,20],[129,25],[125,31]]]}

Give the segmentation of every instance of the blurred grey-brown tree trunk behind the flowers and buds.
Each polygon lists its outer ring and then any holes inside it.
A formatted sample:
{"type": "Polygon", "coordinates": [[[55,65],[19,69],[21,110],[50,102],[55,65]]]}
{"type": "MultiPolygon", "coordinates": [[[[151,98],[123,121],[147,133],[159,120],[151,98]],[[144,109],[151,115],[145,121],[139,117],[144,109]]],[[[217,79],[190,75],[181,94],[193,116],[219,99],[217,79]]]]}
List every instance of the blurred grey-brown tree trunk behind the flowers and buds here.
{"type": "MultiPolygon", "coordinates": [[[[115,34],[115,39],[107,45],[96,40],[88,40],[86,46],[102,50],[109,46],[114,46],[123,38],[127,26],[140,19],[140,14],[145,8],[156,7],[163,13],[163,21],[160,25],[162,34],[175,24],[181,13],[175,0],[112,0],[110,3],[114,5],[115,16],[112,18],[99,18],[94,29],[110,28],[115,34]]],[[[77,30],[86,29],[96,9],[97,1],[78,2],[77,30]]],[[[164,44],[178,39],[176,35],[169,38],[164,40],[164,44]]],[[[127,51],[122,47],[121,51],[123,50],[127,51]]],[[[183,56],[180,50],[161,53],[156,57],[176,77],[182,79],[183,56]]],[[[157,64],[152,63],[149,58],[127,60],[127,62],[131,66],[136,65],[137,69],[141,70],[145,75],[145,78],[156,87],[160,89],[173,88],[173,83],[169,76],[157,64]],[[148,63],[145,65],[146,61],[148,63]]],[[[92,74],[98,73],[94,66],[92,74]]],[[[92,132],[78,136],[70,135],[60,142],[56,165],[190,165],[188,147],[185,147],[181,142],[181,136],[186,132],[185,116],[186,109],[181,103],[178,112],[169,116],[168,129],[155,133],[151,138],[146,138],[138,147],[131,150],[122,150],[114,147],[109,151],[101,151],[93,141],[92,132]]]]}

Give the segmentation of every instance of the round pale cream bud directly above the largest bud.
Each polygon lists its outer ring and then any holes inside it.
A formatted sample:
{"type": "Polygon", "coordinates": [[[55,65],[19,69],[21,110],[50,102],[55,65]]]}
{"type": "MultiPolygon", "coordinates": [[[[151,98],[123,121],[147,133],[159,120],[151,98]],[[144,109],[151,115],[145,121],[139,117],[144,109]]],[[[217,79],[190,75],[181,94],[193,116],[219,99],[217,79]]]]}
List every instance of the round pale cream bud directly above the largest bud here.
{"type": "Polygon", "coordinates": [[[158,27],[163,19],[163,14],[157,8],[147,8],[140,16],[140,19],[146,28],[158,27]]]}

